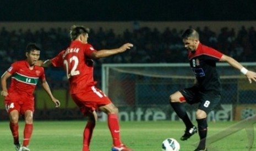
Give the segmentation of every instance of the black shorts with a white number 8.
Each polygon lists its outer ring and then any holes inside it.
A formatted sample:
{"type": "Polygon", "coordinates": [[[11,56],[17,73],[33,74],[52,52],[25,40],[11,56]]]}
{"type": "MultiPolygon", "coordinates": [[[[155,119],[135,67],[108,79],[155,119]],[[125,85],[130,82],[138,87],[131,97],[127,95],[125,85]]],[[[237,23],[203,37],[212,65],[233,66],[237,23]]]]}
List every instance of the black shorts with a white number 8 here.
{"type": "Polygon", "coordinates": [[[199,103],[198,109],[205,111],[207,114],[220,103],[220,93],[215,91],[200,91],[197,86],[186,88],[179,92],[185,97],[187,103],[199,103]]]}

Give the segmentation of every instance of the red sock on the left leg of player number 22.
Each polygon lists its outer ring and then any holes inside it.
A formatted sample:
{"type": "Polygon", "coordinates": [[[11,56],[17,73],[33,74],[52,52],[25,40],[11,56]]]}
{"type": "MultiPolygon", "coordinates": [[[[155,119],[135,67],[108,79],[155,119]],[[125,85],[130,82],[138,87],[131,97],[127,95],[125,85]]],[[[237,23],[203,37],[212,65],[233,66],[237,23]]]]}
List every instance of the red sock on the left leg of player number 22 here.
{"type": "Polygon", "coordinates": [[[89,151],[92,132],[94,131],[95,123],[88,121],[84,129],[84,147],[83,151],[89,151]]]}

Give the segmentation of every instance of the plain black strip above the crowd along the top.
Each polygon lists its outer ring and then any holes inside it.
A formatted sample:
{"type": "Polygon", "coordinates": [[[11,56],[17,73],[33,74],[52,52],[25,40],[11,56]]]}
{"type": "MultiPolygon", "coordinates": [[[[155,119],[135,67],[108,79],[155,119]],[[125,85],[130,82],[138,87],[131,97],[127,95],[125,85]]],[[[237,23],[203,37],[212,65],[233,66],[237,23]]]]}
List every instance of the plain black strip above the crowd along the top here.
{"type": "Polygon", "coordinates": [[[248,21],[256,1],[3,0],[0,21],[248,21]]]}

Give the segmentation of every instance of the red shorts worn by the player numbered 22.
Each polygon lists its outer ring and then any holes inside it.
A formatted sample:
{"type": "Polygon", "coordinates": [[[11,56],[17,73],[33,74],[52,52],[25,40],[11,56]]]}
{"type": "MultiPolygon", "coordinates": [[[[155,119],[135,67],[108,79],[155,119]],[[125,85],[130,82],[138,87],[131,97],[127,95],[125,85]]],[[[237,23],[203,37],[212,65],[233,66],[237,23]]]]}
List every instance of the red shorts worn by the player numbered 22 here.
{"type": "Polygon", "coordinates": [[[91,86],[88,91],[72,94],[73,101],[80,108],[80,111],[86,115],[88,112],[97,110],[100,106],[110,104],[110,99],[95,86],[91,86]]]}

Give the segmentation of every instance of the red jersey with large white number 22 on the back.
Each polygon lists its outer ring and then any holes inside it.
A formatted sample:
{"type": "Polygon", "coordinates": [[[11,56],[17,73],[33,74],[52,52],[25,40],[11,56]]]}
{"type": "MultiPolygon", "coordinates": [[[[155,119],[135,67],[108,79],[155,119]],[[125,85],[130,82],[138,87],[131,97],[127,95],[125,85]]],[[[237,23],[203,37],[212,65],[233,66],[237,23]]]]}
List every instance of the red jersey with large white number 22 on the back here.
{"type": "Polygon", "coordinates": [[[53,66],[64,67],[66,70],[70,94],[87,91],[94,85],[93,60],[90,58],[94,51],[97,50],[92,45],[75,40],[51,60],[53,66]]]}

